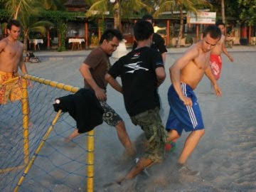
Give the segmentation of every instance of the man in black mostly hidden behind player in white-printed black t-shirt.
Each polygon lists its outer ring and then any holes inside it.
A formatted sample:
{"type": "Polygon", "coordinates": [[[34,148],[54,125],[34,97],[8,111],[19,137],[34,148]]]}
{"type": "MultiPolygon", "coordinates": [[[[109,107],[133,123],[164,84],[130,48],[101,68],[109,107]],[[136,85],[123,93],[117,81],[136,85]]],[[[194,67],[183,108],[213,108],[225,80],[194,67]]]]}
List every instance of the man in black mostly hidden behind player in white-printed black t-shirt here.
{"type": "MultiPolygon", "coordinates": [[[[154,26],[154,18],[153,16],[146,14],[142,17],[143,21],[149,21],[149,23],[152,24],[152,26],[154,26]]],[[[158,50],[159,53],[161,53],[161,56],[164,60],[164,63],[166,61],[166,46],[164,45],[164,38],[162,38],[159,34],[157,33],[153,33],[153,39],[152,39],[152,43],[151,43],[151,48],[154,48],[155,50],[158,50]]],[[[134,44],[132,46],[132,50],[134,50],[135,48],[137,48],[137,42],[134,41],[134,44]]]]}

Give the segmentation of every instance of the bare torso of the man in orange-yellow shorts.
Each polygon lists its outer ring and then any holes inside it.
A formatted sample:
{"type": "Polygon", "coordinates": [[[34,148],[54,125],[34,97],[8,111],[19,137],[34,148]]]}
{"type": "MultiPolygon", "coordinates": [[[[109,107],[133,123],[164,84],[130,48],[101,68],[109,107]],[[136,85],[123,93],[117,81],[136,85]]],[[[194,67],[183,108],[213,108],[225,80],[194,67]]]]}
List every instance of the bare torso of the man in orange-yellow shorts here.
{"type": "Polygon", "coordinates": [[[0,71],[16,73],[21,61],[23,44],[20,41],[10,42],[8,38],[0,41],[0,71]]]}

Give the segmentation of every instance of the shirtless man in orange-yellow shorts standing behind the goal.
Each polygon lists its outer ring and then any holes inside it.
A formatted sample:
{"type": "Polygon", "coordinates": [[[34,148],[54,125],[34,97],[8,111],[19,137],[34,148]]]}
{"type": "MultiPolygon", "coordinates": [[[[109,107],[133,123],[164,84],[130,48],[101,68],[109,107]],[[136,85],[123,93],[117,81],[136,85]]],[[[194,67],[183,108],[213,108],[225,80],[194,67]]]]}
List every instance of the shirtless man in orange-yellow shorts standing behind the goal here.
{"type": "MultiPolygon", "coordinates": [[[[0,41],[0,105],[21,100],[21,82],[19,80],[4,85],[7,80],[18,76],[18,67],[23,74],[28,73],[23,62],[23,43],[18,41],[21,34],[20,23],[9,21],[7,25],[9,36],[0,41]]],[[[31,86],[31,82],[28,81],[31,86]]]]}

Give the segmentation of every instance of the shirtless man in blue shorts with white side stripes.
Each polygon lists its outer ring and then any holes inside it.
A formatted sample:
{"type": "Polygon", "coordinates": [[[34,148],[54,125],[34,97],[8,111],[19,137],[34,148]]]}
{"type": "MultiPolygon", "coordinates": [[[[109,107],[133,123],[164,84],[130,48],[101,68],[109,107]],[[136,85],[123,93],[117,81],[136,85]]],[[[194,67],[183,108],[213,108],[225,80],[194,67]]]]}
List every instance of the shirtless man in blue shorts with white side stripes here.
{"type": "Polygon", "coordinates": [[[206,74],[213,83],[215,94],[221,96],[220,87],[209,65],[210,50],[217,45],[220,37],[221,32],[217,26],[208,26],[203,31],[203,39],[188,48],[169,69],[172,85],[168,92],[170,112],[166,122],[166,129],[169,131],[167,142],[181,137],[183,129],[191,132],[178,159],[178,171],[184,174],[198,173],[191,171],[184,164],[205,133],[200,107],[193,90],[206,74]]]}

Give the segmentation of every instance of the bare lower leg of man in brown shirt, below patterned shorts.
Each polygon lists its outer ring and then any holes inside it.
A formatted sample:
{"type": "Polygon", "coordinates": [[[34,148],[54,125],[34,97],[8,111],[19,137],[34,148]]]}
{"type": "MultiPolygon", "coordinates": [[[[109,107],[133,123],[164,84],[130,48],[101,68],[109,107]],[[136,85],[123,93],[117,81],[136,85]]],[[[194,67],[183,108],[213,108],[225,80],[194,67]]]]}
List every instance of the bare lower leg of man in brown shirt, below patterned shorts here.
{"type": "Polygon", "coordinates": [[[120,122],[115,127],[117,129],[117,136],[119,141],[122,143],[124,148],[127,150],[129,155],[133,155],[135,153],[135,149],[132,146],[132,142],[129,139],[129,135],[127,134],[127,130],[125,129],[124,122],[120,122]]]}

